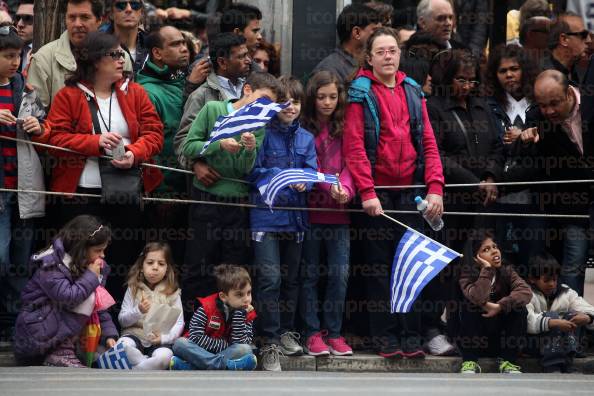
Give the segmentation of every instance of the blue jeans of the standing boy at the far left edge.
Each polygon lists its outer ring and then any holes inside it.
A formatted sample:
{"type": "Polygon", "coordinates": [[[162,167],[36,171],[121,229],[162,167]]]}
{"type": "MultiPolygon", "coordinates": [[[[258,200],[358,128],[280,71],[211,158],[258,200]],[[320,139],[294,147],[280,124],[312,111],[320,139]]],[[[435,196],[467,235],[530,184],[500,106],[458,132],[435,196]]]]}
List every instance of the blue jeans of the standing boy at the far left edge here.
{"type": "Polygon", "coordinates": [[[0,297],[8,314],[17,314],[21,291],[29,279],[33,221],[20,218],[15,193],[0,193],[0,297]]]}

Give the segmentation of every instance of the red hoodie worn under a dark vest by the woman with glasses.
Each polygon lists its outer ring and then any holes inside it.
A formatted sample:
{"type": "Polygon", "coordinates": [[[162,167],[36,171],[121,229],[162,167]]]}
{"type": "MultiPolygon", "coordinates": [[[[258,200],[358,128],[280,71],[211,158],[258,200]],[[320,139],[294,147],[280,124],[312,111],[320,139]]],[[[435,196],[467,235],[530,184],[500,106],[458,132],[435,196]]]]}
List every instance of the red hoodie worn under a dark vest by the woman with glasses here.
{"type": "MultiPolygon", "coordinates": [[[[347,105],[343,154],[361,199],[366,201],[377,197],[374,186],[413,184],[417,153],[411,139],[408,106],[402,86],[406,75],[397,72],[393,91],[379,82],[370,70],[360,69],[357,76],[371,79],[371,89],[377,98],[381,123],[374,178],[365,152],[363,106],[360,103],[347,105]]],[[[423,123],[427,193],[443,195],[441,159],[424,101],[423,123]]]]}

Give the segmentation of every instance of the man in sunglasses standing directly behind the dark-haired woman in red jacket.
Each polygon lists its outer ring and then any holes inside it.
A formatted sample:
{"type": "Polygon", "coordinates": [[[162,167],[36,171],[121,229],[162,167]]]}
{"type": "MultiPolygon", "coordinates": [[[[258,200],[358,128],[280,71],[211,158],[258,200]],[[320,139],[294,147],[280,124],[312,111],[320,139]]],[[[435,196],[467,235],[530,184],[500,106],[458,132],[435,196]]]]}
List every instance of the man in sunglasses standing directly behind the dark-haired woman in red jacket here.
{"type": "Polygon", "coordinates": [[[148,59],[146,34],[140,28],[143,11],[144,3],[141,0],[113,0],[111,22],[100,29],[118,37],[120,45],[132,59],[134,73],[142,70],[148,59]]]}

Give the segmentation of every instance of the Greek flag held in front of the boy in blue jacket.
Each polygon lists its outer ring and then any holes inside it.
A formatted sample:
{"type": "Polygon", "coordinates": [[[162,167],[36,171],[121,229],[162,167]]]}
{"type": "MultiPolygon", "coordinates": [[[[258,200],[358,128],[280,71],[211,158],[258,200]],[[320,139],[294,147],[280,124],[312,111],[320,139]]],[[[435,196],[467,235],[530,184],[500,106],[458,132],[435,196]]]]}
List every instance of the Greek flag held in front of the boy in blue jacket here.
{"type": "Polygon", "coordinates": [[[285,169],[277,173],[269,181],[262,179],[258,183],[258,190],[260,190],[264,202],[272,207],[274,199],[280,190],[291,184],[299,183],[337,184],[338,179],[336,176],[316,172],[313,169],[285,169]]]}

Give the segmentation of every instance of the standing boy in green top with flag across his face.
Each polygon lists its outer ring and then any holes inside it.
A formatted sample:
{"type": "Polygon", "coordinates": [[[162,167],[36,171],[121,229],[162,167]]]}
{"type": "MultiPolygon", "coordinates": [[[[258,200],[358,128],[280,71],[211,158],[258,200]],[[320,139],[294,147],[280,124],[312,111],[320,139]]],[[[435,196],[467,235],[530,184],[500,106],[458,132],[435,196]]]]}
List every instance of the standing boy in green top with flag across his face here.
{"type": "MultiPolygon", "coordinates": [[[[276,101],[277,80],[268,73],[252,73],[237,101],[208,102],[198,113],[188,132],[182,150],[186,157],[205,161],[212,171],[200,180],[194,178],[192,199],[199,201],[247,203],[249,184],[243,179],[254,166],[257,147],[264,138],[264,129],[245,131],[215,126],[233,117],[225,117],[253,102],[276,101]],[[265,99],[267,98],[267,100],[265,99]],[[221,130],[222,129],[222,130],[221,130]],[[231,132],[231,133],[229,133],[231,132]],[[233,134],[236,132],[236,134],[233,134]]],[[[241,110],[239,111],[241,112],[241,110]]],[[[221,263],[247,265],[250,254],[247,233],[248,211],[242,207],[191,205],[191,233],[186,245],[186,259],[181,271],[184,301],[193,296],[217,291],[212,269],[221,263]]],[[[189,309],[191,305],[186,304],[189,309]]],[[[191,312],[189,312],[191,314],[191,312]]]]}

